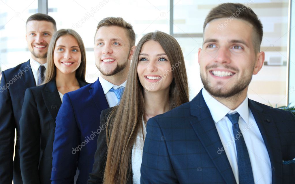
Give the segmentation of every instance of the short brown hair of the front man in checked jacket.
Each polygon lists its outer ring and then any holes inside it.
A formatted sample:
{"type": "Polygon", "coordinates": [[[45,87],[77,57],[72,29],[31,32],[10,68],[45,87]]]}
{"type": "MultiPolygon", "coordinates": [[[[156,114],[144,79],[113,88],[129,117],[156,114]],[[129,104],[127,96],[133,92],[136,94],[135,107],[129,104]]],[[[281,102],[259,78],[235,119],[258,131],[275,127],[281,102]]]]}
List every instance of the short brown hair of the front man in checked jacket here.
{"type": "MultiPolygon", "coordinates": [[[[220,4],[213,8],[207,15],[203,26],[203,31],[205,30],[206,25],[210,21],[220,18],[228,18],[230,20],[237,18],[245,20],[252,24],[253,31],[255,31],[255,34],[253,36],[254,50],[256,53],[260,51],[260,44],[263,36],[263,27],[261,21],[258,19],[258,16],[254,13],[254,11],[251,8],[240,3],[220,4]]],[[[227,21],[227,23],[229,22],[227,21]]]]}

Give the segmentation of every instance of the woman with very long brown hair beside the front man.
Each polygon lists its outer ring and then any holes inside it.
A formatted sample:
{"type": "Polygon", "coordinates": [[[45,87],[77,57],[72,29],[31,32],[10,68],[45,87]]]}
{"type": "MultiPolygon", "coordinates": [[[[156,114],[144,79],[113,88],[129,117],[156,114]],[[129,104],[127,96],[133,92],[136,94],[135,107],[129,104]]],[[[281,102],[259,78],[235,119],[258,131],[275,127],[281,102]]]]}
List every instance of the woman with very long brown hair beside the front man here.
{"type": "Polygon", "coordinates": [[[101,112],[101,133],[88,183],[140,183],[142,148],[149,118],[189,101],[181,48],[161,31],[137,44],[118,106],[101,112]]]}

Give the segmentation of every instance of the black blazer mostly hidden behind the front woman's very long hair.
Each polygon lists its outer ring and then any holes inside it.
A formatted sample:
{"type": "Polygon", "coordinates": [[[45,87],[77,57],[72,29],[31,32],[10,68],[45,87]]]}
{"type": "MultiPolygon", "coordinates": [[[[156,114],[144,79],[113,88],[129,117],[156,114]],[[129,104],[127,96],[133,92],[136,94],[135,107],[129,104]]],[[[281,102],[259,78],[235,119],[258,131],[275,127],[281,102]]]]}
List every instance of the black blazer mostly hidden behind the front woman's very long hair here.
{"type": "MultiPolygon", "coordinates": [[[[109,116],[109,113],[111,110],[112,110],[112,107],[104,111],[101,111],[100,127],[106,124],[107,117],[109,116]]],[[[99,133],[97,138],[97,148],[94,155],[94,164],[93,164],[92,172],[89,174],[90,179],[87,181],[88,184],[102,183],[104,178],[104,170],[106,167],[106,158],[107,158],[106,152],[107,152],[107,145],[106,145],[106,128],[105,128],[99,133]]],[[[127,168],[128,169],[127,184],[133,183],[131,155],[132,153],[130,154],[130,163],[127,168]]]]}

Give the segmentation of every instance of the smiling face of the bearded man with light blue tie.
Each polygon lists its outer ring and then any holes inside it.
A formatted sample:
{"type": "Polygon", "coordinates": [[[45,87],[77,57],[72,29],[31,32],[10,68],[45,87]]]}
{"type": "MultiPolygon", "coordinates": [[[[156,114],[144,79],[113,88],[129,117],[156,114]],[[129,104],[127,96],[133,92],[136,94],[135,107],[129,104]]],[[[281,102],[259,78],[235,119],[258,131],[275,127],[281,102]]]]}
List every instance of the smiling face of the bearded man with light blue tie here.
{"type": "Polygon", "coordinates": [[[112,76],[129,70],[130,43],[125,29],[118,26],[103,26],[95,36],[94,56],[101,75],[112,76]]]}

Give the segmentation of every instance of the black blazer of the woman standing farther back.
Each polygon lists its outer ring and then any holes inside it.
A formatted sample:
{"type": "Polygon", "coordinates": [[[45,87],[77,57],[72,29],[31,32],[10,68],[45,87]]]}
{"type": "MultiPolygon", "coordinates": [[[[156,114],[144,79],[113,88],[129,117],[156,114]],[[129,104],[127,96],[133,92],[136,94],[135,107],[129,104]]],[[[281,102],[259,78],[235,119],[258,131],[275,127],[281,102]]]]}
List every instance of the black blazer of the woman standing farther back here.
{"type": "MultiPolygon", "coordinates": [[[[88,84],[78,82],[80,87],[88,84]]],[[[51,183],[55,118],[60,106],[55,80],[25,92],[19,120],[20,168],[24,183],[51,183]]]]}

